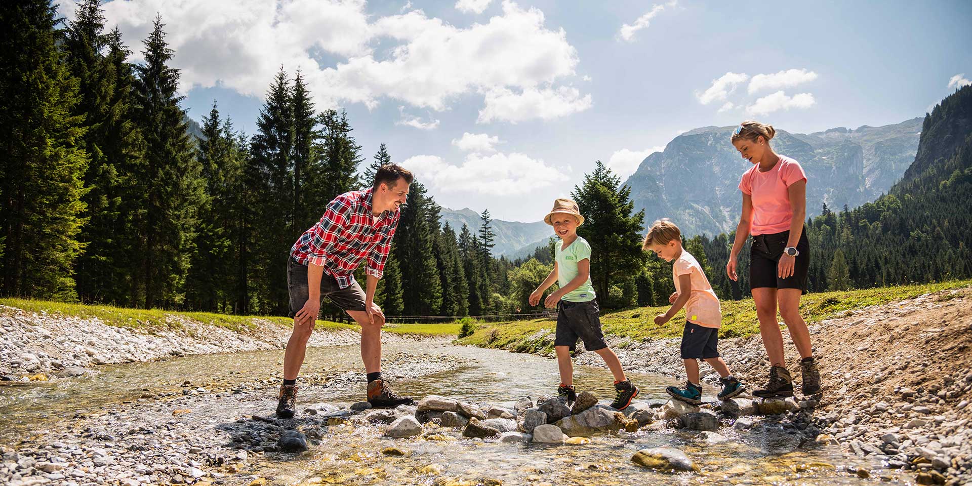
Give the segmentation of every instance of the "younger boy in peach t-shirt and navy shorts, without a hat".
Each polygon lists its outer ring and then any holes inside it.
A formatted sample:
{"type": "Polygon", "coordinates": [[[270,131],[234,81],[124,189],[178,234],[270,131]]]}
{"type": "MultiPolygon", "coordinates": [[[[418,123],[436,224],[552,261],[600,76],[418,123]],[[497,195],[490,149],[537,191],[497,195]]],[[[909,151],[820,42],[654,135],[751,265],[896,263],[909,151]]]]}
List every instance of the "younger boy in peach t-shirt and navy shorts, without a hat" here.
{"type": "Polygon", "coordinates": [[[722,391],[719,399],[731,399],[746,391],[719,358],[718,332],[722,326],[722,310],[719,299],[712,292],[709,279],[702,266],[681,247],[681,231],[668,218],[656,221],[648,229],[642,245],[644,251],[655,252],[662,260],[672,261],[672,277],[675,279],[675,294],[669,296],[672,308],[655,317],[655,324],[661,326],[675,317],[685,307],[685,330],[681,335],[681,359],[685,361],[685,387],[668,387],[665,391],[675,399],[694,405],[702,403],[702,386],[699,383],[699,358],[711,364],[719,373],[722,391]]]}

